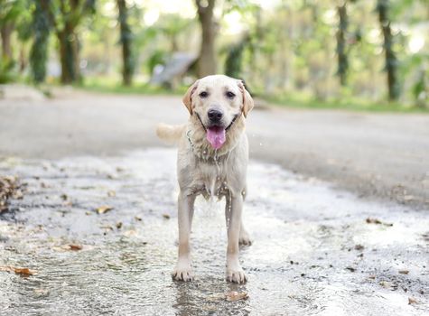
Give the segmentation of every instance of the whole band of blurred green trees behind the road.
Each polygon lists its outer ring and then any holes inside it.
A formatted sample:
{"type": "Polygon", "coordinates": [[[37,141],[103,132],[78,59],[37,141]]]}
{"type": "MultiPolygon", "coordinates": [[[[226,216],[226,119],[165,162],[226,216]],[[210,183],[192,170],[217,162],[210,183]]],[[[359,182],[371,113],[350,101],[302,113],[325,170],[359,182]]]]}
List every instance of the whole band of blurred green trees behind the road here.
{"type": "Polygon", "coordinates": [[[0,0],[0,35],[0,82],[226,73],[282,102],[429,106],[429,0],[0,0]]]}

